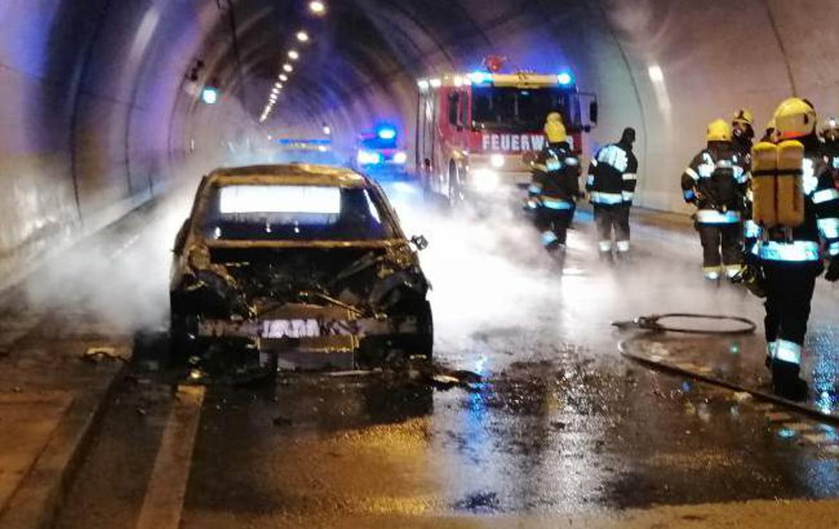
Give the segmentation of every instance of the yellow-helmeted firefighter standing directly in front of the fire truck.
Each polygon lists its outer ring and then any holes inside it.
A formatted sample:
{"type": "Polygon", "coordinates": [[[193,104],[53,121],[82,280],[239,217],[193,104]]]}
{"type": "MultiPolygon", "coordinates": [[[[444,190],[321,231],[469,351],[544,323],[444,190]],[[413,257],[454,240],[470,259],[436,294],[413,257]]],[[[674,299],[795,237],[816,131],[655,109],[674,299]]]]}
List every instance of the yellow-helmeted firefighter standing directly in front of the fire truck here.
{"type": "Polygon", "coordinates": [[[571,152],[559,112],[548,115],[545,138],[545,147],[533,165],[528,204],[535,210],[545,249],[561,257],[580,195],[580,161],[571,152]]]}

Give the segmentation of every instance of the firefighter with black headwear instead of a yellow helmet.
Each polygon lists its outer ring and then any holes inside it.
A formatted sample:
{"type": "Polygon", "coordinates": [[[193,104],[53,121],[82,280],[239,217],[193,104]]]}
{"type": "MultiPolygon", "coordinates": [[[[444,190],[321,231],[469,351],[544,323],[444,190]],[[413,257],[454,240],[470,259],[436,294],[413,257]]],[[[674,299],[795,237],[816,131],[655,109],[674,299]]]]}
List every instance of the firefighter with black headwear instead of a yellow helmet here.
{"type": "Polygon", "coordinates": [[[618,143],[594,154],[588,164],[586,191],[594,208],[600,256],[612,259],[612,228],[618,257],[629,252],[629,208],[635,194],[638,160],[632,152],[635,129],[627,127],[618,143]]]}

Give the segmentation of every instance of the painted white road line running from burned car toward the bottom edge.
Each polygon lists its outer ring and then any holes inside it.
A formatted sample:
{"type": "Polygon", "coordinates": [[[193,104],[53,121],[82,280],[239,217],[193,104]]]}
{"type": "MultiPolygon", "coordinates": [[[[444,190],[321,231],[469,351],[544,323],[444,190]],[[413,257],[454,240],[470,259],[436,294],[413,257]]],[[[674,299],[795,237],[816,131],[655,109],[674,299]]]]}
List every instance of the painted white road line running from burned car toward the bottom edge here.
{"type": "Polygon", "coordinates": [[[203,386],[178,387],[154,459],[137,529],[176,529],[180,526],[204,394],[203,386]]]}

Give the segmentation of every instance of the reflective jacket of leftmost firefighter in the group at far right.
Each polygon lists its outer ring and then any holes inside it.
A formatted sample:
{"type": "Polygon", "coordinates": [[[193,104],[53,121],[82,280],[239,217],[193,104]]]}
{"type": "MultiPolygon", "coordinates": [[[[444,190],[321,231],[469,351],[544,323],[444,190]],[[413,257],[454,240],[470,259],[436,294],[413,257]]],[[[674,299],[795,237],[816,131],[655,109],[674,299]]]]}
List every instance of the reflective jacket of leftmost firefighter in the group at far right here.
{"type": "Polygon", "coordinates": [[[699,224],[740,222],[747,184],[743,158],[726,142],[708,143],[681,177],[685,202],[698,208],[699,224]]]}

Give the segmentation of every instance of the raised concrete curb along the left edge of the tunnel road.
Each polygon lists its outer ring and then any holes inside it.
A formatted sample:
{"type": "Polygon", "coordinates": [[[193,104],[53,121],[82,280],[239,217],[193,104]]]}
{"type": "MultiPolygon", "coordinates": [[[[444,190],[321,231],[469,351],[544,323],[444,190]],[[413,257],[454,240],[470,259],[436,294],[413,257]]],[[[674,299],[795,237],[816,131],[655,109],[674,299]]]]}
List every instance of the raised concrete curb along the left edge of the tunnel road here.
{"type": "Polygon", "coordinates": [[[96,433],[105,404],[122,378],[122,363],[101,366],[86,389],[77,392],[44,450],[23,477],[8,506],[0,512],[3,529],[35,529],[53,526],[76,471],[96,433]]]}

